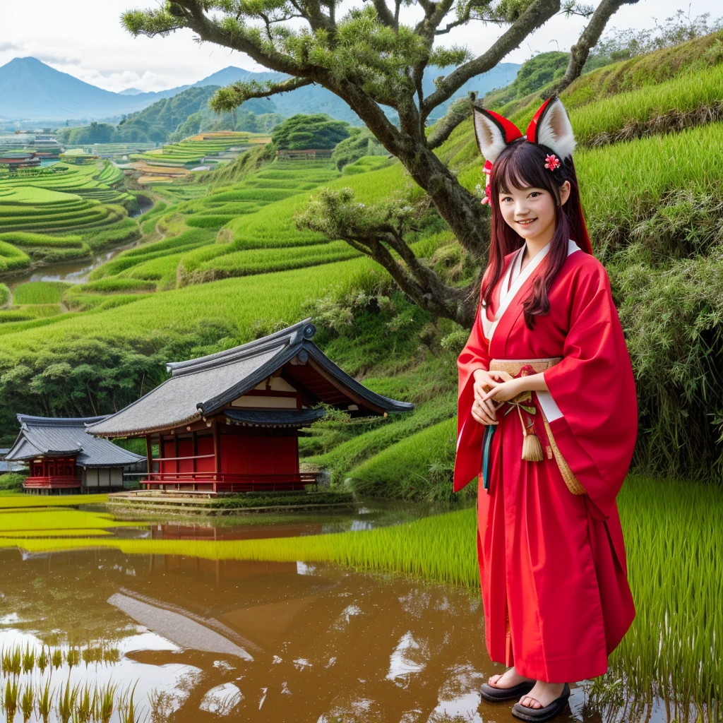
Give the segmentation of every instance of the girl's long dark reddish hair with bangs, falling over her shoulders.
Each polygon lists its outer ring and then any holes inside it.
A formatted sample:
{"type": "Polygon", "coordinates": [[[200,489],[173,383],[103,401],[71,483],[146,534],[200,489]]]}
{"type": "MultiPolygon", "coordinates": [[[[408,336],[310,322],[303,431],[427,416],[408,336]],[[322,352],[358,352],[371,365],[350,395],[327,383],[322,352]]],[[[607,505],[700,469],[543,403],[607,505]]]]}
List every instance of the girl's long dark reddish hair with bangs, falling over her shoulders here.
{"type": "Polygon", "coordinates": [[[572,158],[562,161],[555,171],[544,167],[551,149],[524,139],[510,143],[500,153],[492,166],[489,179],[489,205],[492,208],[492,242],[489,246],[489,262],[484,275],[480,296],[486,307],[492,298],[492,291],[502,277],[505,256],[519,249],[525,243],[513,228],[508,226],[500,211],[500,193],[508,193],[512,188],[541,188],[552,194],[555,199],[555,233],[552,234],[549,253],[545,259],[544,273],[537,276],[532,292],[524,301],[525,323],[534,328],[534,317],[549,314],[549,289],[555,281],[557,272],[568,257],[568,239],[576,241],[584,252],[592,253],[590,241],[583,218],[580,202],[580,190],[572,158]],[[570,182],[570,196],[565,205],[560,203],[560,187],[570,182]]]}

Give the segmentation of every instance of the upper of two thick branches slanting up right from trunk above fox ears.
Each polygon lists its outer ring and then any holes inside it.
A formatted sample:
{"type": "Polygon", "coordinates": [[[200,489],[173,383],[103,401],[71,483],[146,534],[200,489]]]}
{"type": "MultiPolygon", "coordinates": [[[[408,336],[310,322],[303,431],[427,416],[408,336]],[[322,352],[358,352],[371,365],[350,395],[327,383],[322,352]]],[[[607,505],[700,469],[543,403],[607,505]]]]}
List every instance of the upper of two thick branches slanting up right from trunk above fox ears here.
{"type": "Polygon", "coordinates": [[[533,30],[544,25],[559,10],[560,0],[534,0],[486,53],[462,64],[437,85],[437,90],[427,96],[424,106],[420,109],[422,119],[426,120],[440,103],[449,100],[468,80],[495,67],[533,30]]]}

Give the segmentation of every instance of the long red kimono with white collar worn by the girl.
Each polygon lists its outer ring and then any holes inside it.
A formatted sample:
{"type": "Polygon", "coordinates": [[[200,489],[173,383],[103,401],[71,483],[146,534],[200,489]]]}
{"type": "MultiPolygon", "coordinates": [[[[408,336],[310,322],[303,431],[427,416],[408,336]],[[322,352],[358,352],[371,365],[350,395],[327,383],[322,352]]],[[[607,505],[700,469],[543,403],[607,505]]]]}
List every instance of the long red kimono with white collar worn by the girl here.
{"type": "Polygon", "coordinates": [[[607,671],[607,655],[635,617],[615,497],[636,440],[636,390],[603,265],[570,241],[549,315],[536,317],[531,331],[522,304],[549,244],[520,272],[523,249],[506,257],[458,359],[454,489],[480,471],[485,427],[471,416],[474,370],[488,369],[490,359],[562,356],[544,372],[549,392],[532,393],[534,424],[542,407],[586,493],[570,492],[555,458],[521,459],[520,420],[502,405],[489,489],[479,484],[477,552],[489,656],[525,677],[573,682],[607,671]]]}

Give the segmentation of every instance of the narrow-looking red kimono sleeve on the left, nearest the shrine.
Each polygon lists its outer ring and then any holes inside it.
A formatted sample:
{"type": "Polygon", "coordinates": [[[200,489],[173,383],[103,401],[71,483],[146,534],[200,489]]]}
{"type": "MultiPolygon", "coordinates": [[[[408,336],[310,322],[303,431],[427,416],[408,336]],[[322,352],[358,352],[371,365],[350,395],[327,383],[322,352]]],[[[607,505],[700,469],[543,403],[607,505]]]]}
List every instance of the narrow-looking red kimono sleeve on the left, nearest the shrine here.
{"type": "Polygon", "coordinates": [[[472,416],[474,402],[474,371],[489,369],[489,343],[482,331],[482,304],[477,305],[474,325],[457,359],[459,388],[457,398],[457,455],[454,465],[453,489],[459,492],[479,474],[482,460],[484,424],[472,416]]]}

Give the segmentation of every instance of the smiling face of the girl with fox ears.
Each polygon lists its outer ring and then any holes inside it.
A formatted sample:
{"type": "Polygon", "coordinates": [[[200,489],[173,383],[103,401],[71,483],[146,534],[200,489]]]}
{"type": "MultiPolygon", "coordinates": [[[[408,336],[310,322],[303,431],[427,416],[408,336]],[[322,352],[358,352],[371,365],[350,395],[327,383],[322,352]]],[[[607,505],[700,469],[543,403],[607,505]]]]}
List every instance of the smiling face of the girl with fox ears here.
{"type": "MultiPolygon", "coordinates": [[[[570,197],[570,183],[560,187],[560,201],[570,197]]],[[[544,188],[512,188],[500,192],[500,212],[523,239],[547,243],[555,233],[555,197],[544,188]]]]}

